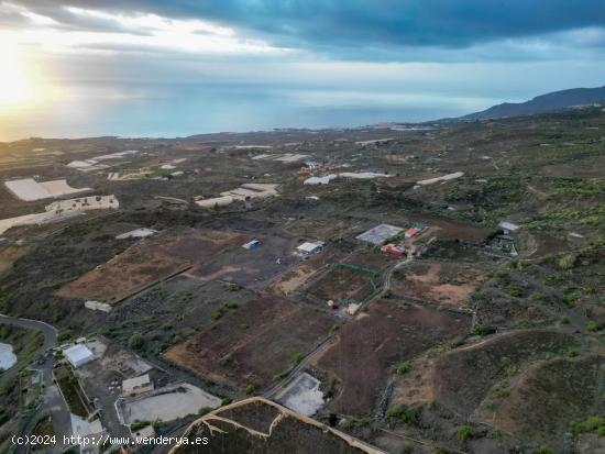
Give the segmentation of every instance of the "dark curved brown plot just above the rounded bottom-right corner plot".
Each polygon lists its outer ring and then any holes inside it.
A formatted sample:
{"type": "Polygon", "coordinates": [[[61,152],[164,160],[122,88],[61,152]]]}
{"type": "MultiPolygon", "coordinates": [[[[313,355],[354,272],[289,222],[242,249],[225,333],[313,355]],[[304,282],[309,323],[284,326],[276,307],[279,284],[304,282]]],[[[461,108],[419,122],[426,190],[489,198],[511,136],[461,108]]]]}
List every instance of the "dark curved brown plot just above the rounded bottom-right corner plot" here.
{"type": "Polygon", "coordinates": [[[510,372],[572,344],[570,334],[557,331],[517,331],[441,356],[432,374],[437,400],[470,416],[510,372]]]}

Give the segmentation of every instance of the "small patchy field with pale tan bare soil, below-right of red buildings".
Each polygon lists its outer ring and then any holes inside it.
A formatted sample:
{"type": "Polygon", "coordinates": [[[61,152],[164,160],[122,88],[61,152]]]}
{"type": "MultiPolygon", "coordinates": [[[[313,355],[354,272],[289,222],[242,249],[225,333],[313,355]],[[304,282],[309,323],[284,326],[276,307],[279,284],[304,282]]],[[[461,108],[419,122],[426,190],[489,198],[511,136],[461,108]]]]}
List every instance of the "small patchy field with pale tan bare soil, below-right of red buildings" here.
{"type": "Polygon", "coordinates": [[[481,270],[469,265],[421,262],[395,273],[393,291],[402,297],[460,306],[482,277],[481,270]]]}

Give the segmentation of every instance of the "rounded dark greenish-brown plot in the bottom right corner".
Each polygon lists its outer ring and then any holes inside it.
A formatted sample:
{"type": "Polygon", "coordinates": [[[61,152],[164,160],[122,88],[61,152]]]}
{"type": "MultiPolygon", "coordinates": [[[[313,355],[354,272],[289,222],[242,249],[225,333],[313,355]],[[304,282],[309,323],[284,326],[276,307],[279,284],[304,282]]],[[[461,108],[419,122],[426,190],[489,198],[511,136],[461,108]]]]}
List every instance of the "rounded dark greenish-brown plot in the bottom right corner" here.
{"type": "Polygon", "coordinates": [[[605,356],[556,358],[531,367],[496,413],[496,424],[521,438],[563,443],[573,420],[605,406],[605,356]]]}

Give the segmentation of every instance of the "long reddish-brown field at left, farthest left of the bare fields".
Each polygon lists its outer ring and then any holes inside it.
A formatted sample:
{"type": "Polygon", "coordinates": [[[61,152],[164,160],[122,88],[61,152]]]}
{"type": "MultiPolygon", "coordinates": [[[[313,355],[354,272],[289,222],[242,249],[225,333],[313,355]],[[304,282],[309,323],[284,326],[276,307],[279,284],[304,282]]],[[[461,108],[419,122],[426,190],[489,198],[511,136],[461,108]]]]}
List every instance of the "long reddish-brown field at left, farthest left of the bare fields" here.
{"type": "Polygon", "coordinates": [[[194,229],[158,234],[134,243],[58,295],[116,302],[246,240],[242,234],[194,229]]]}

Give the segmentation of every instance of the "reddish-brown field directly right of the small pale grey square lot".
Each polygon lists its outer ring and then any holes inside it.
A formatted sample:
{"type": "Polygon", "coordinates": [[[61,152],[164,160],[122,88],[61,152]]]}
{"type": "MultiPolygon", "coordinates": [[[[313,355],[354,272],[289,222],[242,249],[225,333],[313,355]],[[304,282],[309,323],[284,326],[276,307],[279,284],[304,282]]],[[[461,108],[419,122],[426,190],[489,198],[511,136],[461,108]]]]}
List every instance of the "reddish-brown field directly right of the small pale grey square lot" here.
{"type": "Polygon", "coordinates": [[[342,380],[331,408],[344,414],[372,412],[392,366],[465,333],[470,323],[466,314],[393,300],[372,303],[370,312],[344,325],[336,343],[315,361],[342,380]]]}

